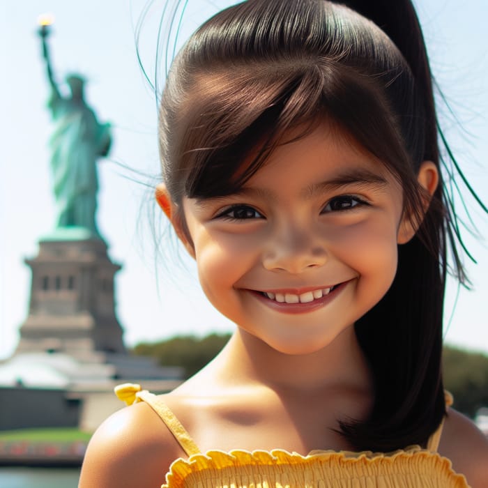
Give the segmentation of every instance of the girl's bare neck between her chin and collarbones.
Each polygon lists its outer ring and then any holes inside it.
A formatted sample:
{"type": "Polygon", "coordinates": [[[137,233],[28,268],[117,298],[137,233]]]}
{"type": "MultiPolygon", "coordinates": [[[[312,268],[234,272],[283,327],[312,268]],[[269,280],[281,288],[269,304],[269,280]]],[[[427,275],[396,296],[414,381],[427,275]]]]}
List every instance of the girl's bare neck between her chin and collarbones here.
{"type": "MultiPolygon", "coordinates": [[[[238,328],[215,358],[222,383],[261,383],[273,389],[302,394],[324,388],[352,388],[372,392],[367,360],[353,326],[320,351],[306,355],[280,353],[238,328]]],[[[214,369],[215,372],[215,369],[214,369]]]]}

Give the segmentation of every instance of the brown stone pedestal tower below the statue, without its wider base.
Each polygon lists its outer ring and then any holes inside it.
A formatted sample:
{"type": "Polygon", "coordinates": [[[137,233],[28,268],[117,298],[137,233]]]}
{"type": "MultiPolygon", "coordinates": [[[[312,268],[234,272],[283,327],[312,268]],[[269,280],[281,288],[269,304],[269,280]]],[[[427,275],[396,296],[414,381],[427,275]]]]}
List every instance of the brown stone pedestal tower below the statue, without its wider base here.
{"type": "Polygon", "coordinates": [[[114,303],[121,266],[109,259],[101,238],[41,240],[26,264],[32,270],[29,315],[16,354],[66,353],[98,363],[105,353],[125,353],[114,303]]]}

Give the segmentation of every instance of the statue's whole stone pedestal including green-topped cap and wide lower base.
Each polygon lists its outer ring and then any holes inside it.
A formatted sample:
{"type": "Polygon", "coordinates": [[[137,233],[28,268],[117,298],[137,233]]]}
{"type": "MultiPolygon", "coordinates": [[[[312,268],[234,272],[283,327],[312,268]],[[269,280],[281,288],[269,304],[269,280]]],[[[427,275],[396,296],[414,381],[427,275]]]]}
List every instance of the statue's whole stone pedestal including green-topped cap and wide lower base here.
{"type": "Polygon", "coordinates": [[[0,408],[0,428],[93,430],[121,408],[116,384],[167,392],[181,383],[183,368],[162,367],[125,349],[114,300],[121,266],[102,238],[86,229],[56,229],[25,262],[32,270],[29,312],[15,354],[0,362],[0,397],[10,398],[8,408],[0,408]]]}

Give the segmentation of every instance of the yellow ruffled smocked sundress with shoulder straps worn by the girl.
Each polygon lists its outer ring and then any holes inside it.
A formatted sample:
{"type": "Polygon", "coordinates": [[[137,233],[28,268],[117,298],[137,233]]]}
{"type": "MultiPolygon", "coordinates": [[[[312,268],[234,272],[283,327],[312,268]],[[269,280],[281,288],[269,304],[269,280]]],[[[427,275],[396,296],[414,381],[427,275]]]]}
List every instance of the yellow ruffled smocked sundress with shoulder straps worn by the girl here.
{"type": "Polygon", "coordinates": [[[464,475],[436,451],[443,423],[429,439],[395,452],[296,452],[210,450],[202,453],[158,395],[125,384],[116,395],[126,404],[146,402],[188,455],[171,464],[162,488],[469,488],[464,475]]]}

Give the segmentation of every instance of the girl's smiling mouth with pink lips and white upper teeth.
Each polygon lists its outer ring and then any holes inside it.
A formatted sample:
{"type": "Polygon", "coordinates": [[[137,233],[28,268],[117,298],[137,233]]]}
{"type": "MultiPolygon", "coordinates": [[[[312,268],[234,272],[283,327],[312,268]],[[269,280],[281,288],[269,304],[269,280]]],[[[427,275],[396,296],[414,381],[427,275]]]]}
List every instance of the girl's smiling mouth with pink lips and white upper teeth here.
{"type": "Polygon", "coordinates": [[[293,291],[291,291],[291,289],[280,289],[266,292],[249,291],[262,303],[279,312],[287,314],[303,314],[317,310],[329,303],[330,300],[333,300],[350,281],[352,280],[335,284],[331,287],[326,287],[325,289],[310,287],[309,289],[293,289],[293,291]],[[296,293],[297,291],[298,293],[296,293]]]}

